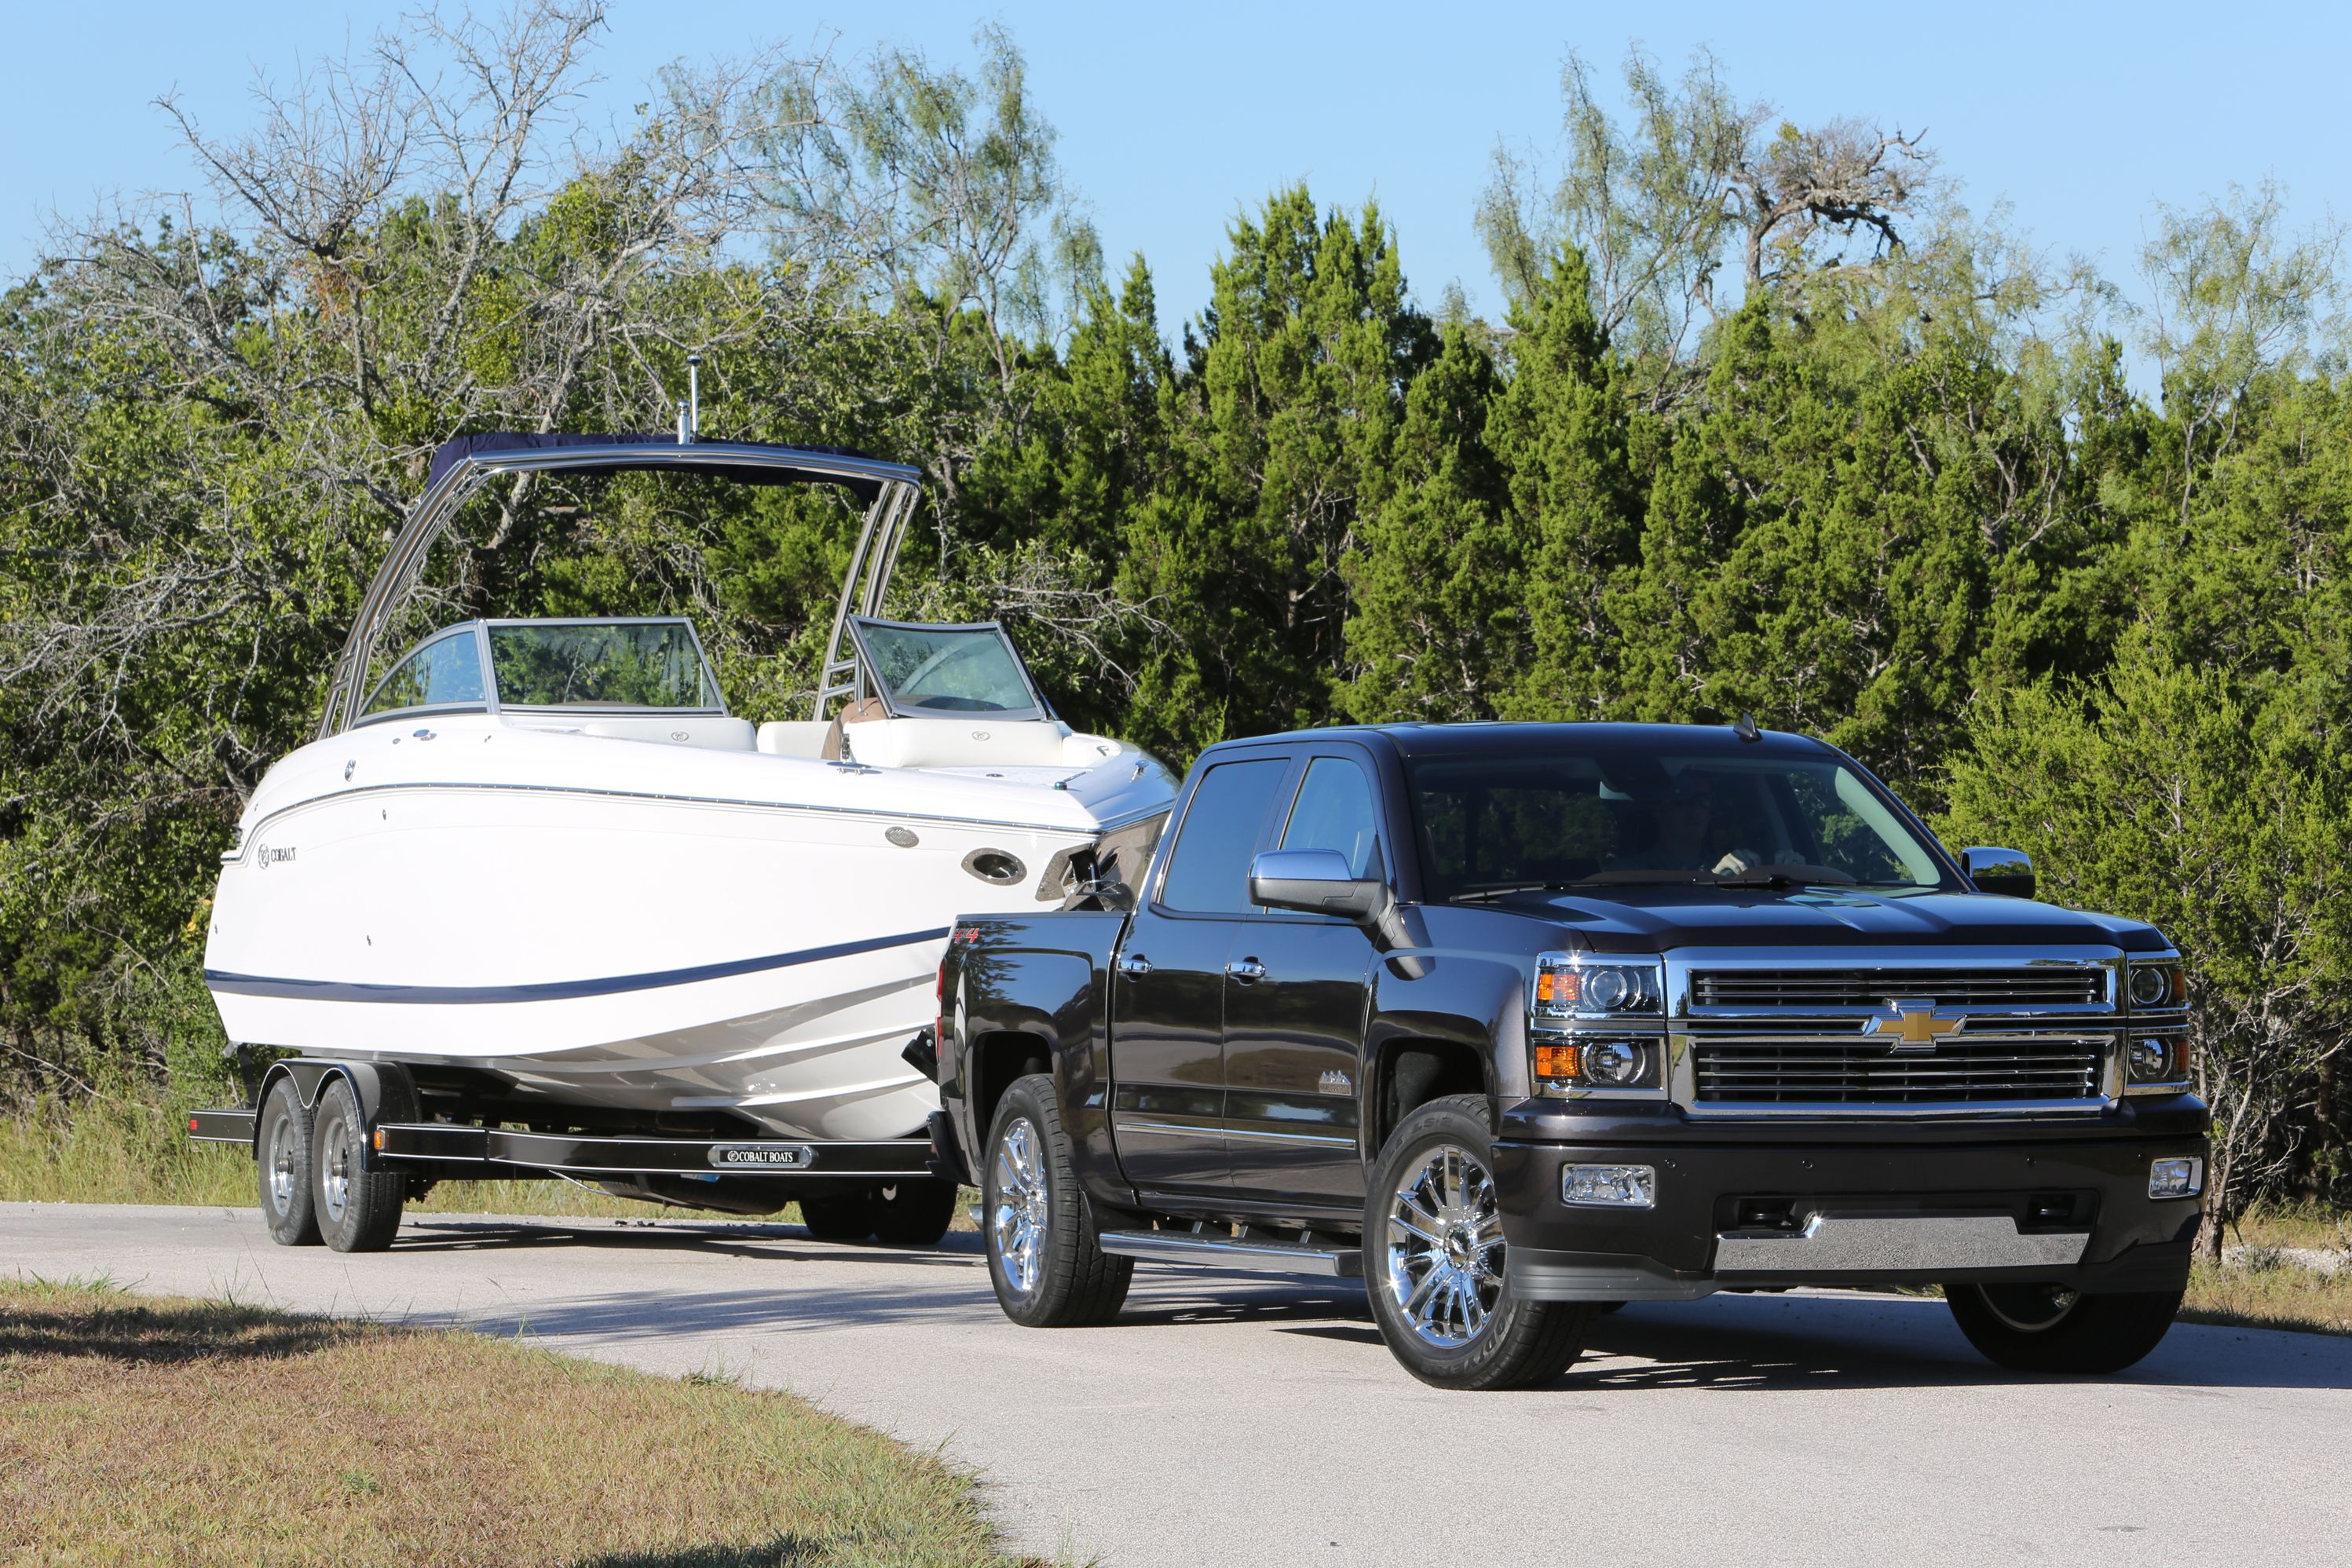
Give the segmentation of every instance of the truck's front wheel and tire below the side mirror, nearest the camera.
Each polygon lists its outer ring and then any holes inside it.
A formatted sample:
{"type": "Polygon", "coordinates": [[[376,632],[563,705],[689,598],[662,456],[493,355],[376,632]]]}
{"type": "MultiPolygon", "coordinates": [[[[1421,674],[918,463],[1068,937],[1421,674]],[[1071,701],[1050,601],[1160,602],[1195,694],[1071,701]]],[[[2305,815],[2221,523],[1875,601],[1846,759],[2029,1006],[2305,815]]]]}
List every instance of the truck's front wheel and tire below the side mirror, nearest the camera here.
{"type": "Polygon", "coordinates": [[[1364,1293],[1390,1354],[1442,1389],[1541,1387],[1599,1314],[1512,1293],[1486,1095],[1430,1100],[1390,1133],[1364,1199],[1364,1293]]]}

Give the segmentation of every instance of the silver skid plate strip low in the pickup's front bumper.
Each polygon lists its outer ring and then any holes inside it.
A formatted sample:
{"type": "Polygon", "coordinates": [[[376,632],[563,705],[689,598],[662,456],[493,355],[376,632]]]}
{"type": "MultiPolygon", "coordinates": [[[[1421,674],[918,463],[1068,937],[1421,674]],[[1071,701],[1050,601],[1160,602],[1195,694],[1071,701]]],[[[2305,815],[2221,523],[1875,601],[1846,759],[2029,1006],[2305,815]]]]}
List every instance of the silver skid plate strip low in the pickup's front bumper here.
{"type": "Polygon", "coordinates": [[[1717,1274],[1896,1274],[1924,1269],[2070,1267],[2091,1246],[2086,1229],[2020,1232],[2004,1213],[1856,1215],[1816,1213],[1804,1229],[1726,1229],[1715,1237],[1717,1274]]]}

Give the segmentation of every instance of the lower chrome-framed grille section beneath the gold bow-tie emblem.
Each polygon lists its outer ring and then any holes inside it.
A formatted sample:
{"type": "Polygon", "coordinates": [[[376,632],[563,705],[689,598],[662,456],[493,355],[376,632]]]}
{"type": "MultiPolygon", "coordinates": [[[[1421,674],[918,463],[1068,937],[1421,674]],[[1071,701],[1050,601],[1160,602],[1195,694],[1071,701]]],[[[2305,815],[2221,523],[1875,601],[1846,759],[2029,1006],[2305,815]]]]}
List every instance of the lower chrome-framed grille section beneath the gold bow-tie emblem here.
{"type": "Polygon", "coordinates": [[[1969,1039],[1896,1053],[1879,1039],[1691,1041],[1700,1105],[1999,1105],[2093,1100],[2098,1039],[1969,1039]]]}

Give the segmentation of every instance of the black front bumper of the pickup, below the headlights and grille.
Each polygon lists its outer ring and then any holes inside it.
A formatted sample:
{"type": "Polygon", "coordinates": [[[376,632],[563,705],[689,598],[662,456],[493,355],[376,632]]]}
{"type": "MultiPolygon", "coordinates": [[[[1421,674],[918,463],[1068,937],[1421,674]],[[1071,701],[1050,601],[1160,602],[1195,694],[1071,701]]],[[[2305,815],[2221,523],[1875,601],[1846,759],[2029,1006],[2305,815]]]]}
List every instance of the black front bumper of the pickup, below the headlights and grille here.
{"type": "Polygon", "coordinates": [[[2150,1199],[2147,1166],[2180,1154],[2206,1154],[2204,1105],[2187,1095],[2096,1119],[1900,1126],[1529,1103],[1494,1147],[1526,1300],[2002,1279],[2169,1291],[2187,1279],[2197,1199],[2150,1199]],[[1651,1166],[1656,1206],[1571,1208],[1569,1164],[1651,1166]]]}

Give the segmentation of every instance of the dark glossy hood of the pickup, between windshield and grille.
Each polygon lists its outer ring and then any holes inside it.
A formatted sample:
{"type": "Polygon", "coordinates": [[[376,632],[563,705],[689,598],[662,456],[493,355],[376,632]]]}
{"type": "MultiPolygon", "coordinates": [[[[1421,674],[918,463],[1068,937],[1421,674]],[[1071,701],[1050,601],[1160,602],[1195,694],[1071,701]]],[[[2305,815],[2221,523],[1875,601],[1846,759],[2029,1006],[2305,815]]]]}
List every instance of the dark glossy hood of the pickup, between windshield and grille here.
{"type": "Polygon", "coordinates": [[[2089,945],[2161,952],[2143,922],[1994,893],[1613,886],[1519,893],[1496,907],[1576,931],[1602,952],[1668,947],[2089,945]],[[1602,893],[1602,896],[1597,896],[1602,893]]]}

